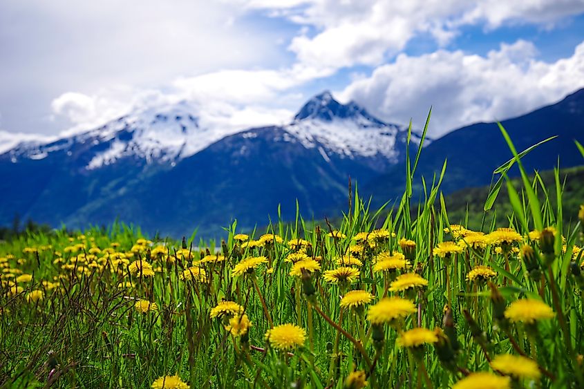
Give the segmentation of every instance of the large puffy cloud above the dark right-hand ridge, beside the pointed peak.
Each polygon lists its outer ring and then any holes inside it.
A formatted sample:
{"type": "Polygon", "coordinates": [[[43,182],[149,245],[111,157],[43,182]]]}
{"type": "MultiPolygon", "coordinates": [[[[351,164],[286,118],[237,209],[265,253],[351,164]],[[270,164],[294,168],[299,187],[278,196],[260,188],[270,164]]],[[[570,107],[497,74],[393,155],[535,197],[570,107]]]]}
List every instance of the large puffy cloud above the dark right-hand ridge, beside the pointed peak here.
{"type": "Polygon", "coordinates": [[[535,54],[534,45],[521,40],[485,57],[460,50],[402,54],[352,82],[341,96],[386,120],[405,123],[413,117],[417,127],[433,106],[428,133],[442,135],[464,124],[527,113],[584,87],[584,42],[572,57],[551,64],[535,54]]]}

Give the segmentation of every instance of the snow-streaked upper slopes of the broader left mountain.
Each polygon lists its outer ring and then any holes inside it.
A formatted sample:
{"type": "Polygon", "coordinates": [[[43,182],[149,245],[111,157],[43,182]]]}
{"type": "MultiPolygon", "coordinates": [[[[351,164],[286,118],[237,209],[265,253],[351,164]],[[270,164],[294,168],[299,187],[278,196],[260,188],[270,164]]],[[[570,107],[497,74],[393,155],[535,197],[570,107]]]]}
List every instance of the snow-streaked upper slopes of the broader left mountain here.
{"type": "Polygon", "coordinates": [[[198,107],[188,102],[157,106],[124,115],[103,126],[52,142],[22,142],[10,149],[10,159],[40,160],[55,151],[92,150],[85,168],[97,169],[122,158],[145,163],[176,164],[227,135],[241,129],[201,124],[198,107]]]}

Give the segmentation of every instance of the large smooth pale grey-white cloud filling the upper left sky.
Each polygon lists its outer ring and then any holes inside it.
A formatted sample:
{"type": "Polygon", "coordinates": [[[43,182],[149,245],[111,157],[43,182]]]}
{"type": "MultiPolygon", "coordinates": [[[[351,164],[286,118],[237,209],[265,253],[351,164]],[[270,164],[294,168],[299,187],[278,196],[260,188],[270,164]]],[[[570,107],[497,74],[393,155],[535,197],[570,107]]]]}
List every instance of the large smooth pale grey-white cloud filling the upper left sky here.
{"type": "MultiPolygon", "coordinates": [[[[120,86],[164,90],[177,77],[280,66],[287,35],[243,14],[217,1],[0,1],[3,128],[56,133],[66,122],[47,120],[50,103],[70,91],[111,98],[120,86]]],[[[77,97],[59,117],[108,116],[77,97]]]]}

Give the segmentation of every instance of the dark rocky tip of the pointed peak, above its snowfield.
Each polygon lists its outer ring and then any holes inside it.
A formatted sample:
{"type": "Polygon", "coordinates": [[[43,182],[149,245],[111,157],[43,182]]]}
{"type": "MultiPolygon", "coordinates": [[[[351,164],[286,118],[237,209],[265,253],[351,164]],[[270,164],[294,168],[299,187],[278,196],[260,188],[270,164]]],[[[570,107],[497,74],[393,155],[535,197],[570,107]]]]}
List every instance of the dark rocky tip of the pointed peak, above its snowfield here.
{"type": "Polygon", "coordinates": [[[355,102],[348,104],[339,103],[335,97],[332,97],[330,91],[323,91],[312,97],[306,104],[300,108],[300,111],[294,116],[294,122],[307,119],[317,119],[323,122],[332,122],[338,119],[356,119],[364,117],[366,120],[377,125],[385,125],[384,122],[371,116],[365,108],[355,102]]]}

